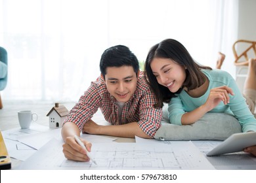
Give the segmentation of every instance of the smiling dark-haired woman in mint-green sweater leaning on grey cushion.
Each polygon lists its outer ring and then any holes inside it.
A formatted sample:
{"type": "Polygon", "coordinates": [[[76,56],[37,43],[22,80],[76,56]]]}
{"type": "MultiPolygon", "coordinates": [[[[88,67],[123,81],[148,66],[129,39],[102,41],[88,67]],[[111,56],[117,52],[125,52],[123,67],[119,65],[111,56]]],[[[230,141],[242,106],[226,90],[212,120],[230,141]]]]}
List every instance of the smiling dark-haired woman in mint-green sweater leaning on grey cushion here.
{"type": "MultiPolygon", "coordinates": [[[[244,94],[250,97],[248,104],[254,112],[256,59],[250,59],[249,63],[249,79],[244,94]]],[[[189,125],[206,112],[225,112],[238,119],[242,131],[256,131],[256,119],[234,78],[220,69],[199,65],[180,42],[165,39],[153,46],[144,70],[158,98],[156,106],[169,103],[169,121],[172,124],[189,125]]]]}

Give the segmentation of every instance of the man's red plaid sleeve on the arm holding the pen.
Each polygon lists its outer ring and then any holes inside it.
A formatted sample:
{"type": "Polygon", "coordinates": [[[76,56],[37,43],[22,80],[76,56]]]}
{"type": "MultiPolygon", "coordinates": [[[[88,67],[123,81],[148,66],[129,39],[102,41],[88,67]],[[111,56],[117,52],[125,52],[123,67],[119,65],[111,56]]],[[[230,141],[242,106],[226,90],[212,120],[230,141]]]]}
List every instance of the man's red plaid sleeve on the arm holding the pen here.
{"type": "Polygon", "coordinates": [[[70,110],[62,126],[66,124],[66,122],[73,122],[79,127],[80,131],[82,131],[83,125],[93,117],[101,101],[102,97],[98,86],[92,83],[88,90],[80,97],[78,103],[70,110]]]}

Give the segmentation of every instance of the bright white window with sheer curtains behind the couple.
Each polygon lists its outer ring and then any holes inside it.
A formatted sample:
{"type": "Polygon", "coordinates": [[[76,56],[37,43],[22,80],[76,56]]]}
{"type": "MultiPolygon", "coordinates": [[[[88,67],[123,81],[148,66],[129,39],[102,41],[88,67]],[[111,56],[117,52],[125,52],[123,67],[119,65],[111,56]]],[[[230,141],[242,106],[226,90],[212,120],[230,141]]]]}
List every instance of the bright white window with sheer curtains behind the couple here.
{"type": "Polygon", "coordinates": [[[196,61],[215,67],[218,51],[232,55],[237,21],[232,14],[237,4],[0,0],[0,44],[9,56],[3,98],[77,101],[100,75],[102,52],[116,44],[129,46],[144,61],[151,46],[166,38],[177,39],[196,61]]]}

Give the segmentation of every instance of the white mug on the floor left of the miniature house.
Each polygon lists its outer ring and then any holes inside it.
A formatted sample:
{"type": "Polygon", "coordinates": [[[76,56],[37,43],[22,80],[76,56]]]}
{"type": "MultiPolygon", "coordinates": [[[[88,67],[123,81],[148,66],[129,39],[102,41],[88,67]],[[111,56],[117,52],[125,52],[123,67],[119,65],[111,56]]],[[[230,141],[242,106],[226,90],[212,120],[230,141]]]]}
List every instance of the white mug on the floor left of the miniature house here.
{"type": "Polygon", "coordinates": [[[37,114],[32,113],[32,110],[20,110],[18,112],[18,122],[20,123],[21,128],[29,128],[31,122],[35,122],[37,120],[37,114]],[[33,119],[33,116],[36,116],[35,119],[33,119]]]}

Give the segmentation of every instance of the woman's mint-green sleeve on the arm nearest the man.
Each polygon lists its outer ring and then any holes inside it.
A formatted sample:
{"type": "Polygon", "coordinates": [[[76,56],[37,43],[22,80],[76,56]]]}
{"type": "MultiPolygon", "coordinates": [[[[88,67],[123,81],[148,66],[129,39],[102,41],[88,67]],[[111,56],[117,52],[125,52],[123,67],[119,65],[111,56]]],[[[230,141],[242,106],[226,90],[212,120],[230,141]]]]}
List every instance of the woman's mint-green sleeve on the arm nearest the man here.
{"type": "Polygon", "coordinates": [[[179,96],[173,97],[168,104],[168,118],[171,124],[182,125],[181,117],[185,113],[179,96]]]}

